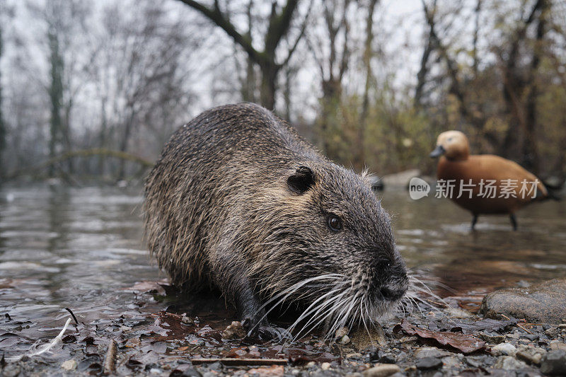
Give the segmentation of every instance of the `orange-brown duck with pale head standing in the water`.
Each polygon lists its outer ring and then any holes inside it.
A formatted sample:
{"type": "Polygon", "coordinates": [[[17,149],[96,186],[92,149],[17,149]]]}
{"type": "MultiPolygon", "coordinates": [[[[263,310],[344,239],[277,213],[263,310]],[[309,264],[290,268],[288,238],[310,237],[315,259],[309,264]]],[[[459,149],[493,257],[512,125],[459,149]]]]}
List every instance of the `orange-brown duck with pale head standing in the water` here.
{"type": "Polygon", "coordinates": [[[470,156],[468,151],[466,136],[448,131],[440,134],[431,156],[441,156],[438,182],[447,197],[473,214],[472,228],[480,214],[509,214],[516,229],[514,213],[548,197],[543,182],[518,163],[489,154],[470,156]]]}

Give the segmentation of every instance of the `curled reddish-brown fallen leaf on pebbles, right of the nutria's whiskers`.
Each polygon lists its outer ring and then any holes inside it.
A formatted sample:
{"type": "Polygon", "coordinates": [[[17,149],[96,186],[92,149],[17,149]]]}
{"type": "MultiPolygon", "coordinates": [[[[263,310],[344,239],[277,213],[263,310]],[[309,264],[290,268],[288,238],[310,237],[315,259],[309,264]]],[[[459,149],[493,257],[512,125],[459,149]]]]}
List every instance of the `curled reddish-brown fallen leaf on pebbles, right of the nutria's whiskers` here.
{"type": "Polygon", "coordinates": [[[485,348],[483,340],[473,335],[460,334],[458,332],[430,331],[411,325],[407,320],[402,320],[400,325],[395,325],[393,332],[403,330],[408,335],[417,335],[423,339],[436,340],[443,346],[451,346],[459,349],[464,354],[470,354],[485,348]]]}

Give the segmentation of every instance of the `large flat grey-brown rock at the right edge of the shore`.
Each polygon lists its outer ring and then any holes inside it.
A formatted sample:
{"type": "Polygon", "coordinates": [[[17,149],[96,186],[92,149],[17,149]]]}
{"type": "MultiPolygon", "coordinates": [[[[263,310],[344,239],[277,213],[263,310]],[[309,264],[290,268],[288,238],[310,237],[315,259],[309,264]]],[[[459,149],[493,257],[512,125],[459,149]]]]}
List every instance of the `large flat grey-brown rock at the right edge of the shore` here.
{"type": "Polygon", "coordinates": [[[481,311],[488,318],[500,314],[524,318],[531,323],[559,325],[566,319],[566,279],[553,279],[529,288],[510,288],[487,294],[481,311]]]}

